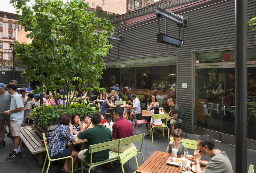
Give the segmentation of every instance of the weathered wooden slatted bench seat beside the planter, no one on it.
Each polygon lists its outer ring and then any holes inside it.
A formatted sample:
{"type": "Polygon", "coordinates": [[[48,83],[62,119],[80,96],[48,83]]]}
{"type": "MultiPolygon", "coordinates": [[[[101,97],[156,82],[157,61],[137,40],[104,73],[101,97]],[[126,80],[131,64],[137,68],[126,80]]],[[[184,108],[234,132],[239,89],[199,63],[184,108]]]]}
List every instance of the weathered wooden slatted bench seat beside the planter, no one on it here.
{"type": "Polygon", "coordinates": [[[46,149],[41,142],[42,139],[33,131],[32,126],[21,127],[19,137],[31,154],[38,154],[38,166],[43,167],[46,149]]]}

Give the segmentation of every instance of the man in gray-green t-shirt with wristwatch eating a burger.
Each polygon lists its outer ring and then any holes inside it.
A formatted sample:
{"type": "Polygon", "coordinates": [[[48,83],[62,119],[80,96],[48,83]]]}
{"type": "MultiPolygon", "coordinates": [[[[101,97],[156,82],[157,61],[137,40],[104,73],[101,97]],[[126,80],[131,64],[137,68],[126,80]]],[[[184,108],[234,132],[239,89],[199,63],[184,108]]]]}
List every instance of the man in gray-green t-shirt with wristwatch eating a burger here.
{"type": "Polygon", "coordinates": [[[225,151],[216,150],[214,147],[214,140],[210,135],[198,136],[198,145],[199,150],[194,152],[194,157],[191,157],[189,160],[195,162],[196,173],[233,173],[232,166],[229,158],[227,157],[225,151]],[[209,161],[200,160],[202,154],[207,154],[210,156],[209,161]],[[205,166],[203,171],[200,168],[205,166]]]}

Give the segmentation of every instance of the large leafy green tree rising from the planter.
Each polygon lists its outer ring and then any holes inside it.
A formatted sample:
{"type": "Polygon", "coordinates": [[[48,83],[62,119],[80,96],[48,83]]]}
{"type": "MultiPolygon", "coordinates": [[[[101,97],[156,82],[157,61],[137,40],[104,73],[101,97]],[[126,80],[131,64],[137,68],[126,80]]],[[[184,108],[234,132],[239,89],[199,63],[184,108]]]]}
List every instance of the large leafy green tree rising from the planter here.
{"type": "MultiPolygon", "coordinates": [[[[32,39],[31,44],[15,43],[19,61],[27,66],[22,77],[29,76],[28,82],[42,82],[52,93],[63,86],[69,92],[77,88],[79,94],[84,90],[105,91],[99,88],[98,79],[106,69],[102,57],[112,47],[107,39],[114,33],[110,21],[95,18],[92,11],[85,10],[89,5],[82,0],[65,4],[61,0],[35,0],[32,9],[26,6],[27,1],[10,0],[16,13],[22,11],[19,24],[30,31],[26,37],[32,39]],[[101,34],[94,32],[99,26],[103,28],[101,34]]],[[[73,99],[69,96],[67,106],[73,99]]]]}

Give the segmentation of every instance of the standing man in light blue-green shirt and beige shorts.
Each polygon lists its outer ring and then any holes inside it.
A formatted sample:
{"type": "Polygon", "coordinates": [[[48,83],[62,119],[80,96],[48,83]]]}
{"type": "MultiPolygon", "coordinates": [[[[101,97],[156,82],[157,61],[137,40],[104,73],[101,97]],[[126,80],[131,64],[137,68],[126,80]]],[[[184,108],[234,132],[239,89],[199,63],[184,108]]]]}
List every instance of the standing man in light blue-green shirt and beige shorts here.
{"type": "Polygon", "coordinates": [[[9,154],[6,160],[11,160],[21,155],[19,133],[24,118],[24,104],[22,97],[16,91],[17,85],[9,83],[6,87],[8,93],[11,94],[10,110],[7,110],[6,114],[10,115],[11,134],[14,142],[14,150],[9,154]]]}

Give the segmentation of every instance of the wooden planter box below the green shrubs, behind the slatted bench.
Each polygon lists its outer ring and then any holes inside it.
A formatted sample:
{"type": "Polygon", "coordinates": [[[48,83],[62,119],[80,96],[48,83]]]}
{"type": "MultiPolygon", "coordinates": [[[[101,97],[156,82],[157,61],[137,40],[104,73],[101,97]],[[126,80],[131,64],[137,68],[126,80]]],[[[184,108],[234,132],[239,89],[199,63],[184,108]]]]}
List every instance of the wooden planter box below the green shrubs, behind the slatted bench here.
{"type": "Polygon", "coordinates": [[[38,120],[34,119],[33,122],[33,130],[41,137],[43,137],[43,133],[45,133],[45,136],[49,137],[52,135],[54,129],[58,126],[59,121],[51,121],[49,122],[49,126],[43,126],[43,127],[38,127],[38,120]],[[53,124],[53,125],[50,125],[53,124]],[[56,125],[55,125],[56,124],[56,125]]]}

